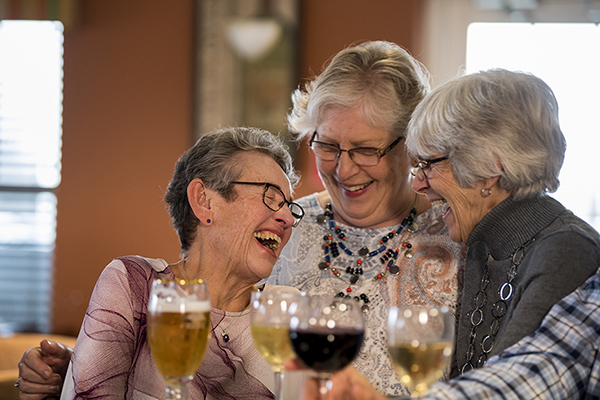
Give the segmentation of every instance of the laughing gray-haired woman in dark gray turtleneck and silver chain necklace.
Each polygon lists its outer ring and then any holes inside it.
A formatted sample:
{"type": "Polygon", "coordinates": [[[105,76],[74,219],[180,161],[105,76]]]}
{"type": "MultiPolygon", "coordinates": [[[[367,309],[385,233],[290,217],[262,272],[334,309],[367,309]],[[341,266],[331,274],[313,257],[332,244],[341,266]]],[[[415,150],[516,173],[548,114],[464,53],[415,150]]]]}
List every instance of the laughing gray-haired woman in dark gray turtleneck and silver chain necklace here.
{"type": "Polygon", "coordinates": [[[550,87],[489,70],[445,83],[408,127],[413,189],[445,204],[465,243],[465,287],[452,376],[485,365],[535,331],[558,300],[600,265],[600,236],[548,195],[565,139],[550,87]]]}

